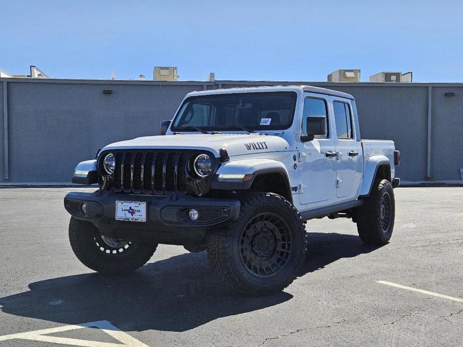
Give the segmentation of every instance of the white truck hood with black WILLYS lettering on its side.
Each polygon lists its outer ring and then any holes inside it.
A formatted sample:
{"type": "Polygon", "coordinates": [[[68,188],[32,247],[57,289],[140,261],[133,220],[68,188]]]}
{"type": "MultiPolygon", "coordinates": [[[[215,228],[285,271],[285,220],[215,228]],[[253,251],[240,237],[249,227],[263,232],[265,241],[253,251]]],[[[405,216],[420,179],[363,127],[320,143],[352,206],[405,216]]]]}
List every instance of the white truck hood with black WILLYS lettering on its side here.
{"type": "Polygon", "coordinates": [[[208,150],[219,156],[221,148],[229,156],[258,152],[288,150],[288,142],[275,135],[251,134],[175,134],[137,137],[131,140],[108,144],[103,150],[111,149],[198,149],[208,150]]]}

